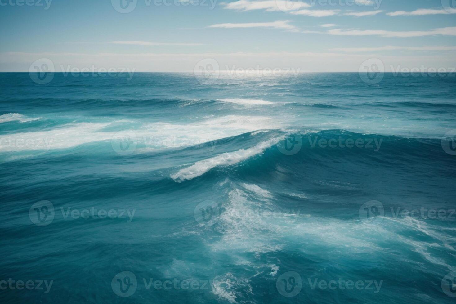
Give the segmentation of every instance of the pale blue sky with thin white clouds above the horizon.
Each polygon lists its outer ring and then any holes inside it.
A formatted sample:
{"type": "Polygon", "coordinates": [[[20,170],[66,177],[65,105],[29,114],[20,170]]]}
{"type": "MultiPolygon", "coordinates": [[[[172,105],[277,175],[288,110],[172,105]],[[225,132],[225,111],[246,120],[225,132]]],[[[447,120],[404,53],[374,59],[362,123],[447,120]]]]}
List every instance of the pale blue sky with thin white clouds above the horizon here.
{"type": "Polygon", "coordinates": [[[456,0],[0,0],[0,71],[456,67],[456,0]]]}

